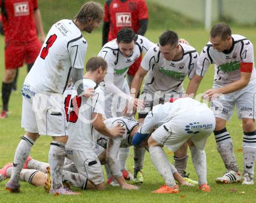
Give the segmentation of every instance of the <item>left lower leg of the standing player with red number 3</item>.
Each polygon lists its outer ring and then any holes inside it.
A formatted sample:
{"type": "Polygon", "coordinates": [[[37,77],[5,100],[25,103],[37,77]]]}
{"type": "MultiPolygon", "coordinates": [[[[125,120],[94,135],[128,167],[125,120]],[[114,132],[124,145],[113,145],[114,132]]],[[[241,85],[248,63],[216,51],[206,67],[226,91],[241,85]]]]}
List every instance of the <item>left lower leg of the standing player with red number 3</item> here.
{"type": "Polygon", "coordinates": [[[6,190],[9,190],[10,193],[19,193],[20,185],[19,185],[19,176],[22,171],[23,165],[29,157],[30,149],[34,144],[34,140],[32,140],[29,136],[24,135],[20,143],[18,144],[15,152],[15,157],[13,161],[13,172],[12,176],[10,176],[10,180],[6,183],[6,190]]]}

